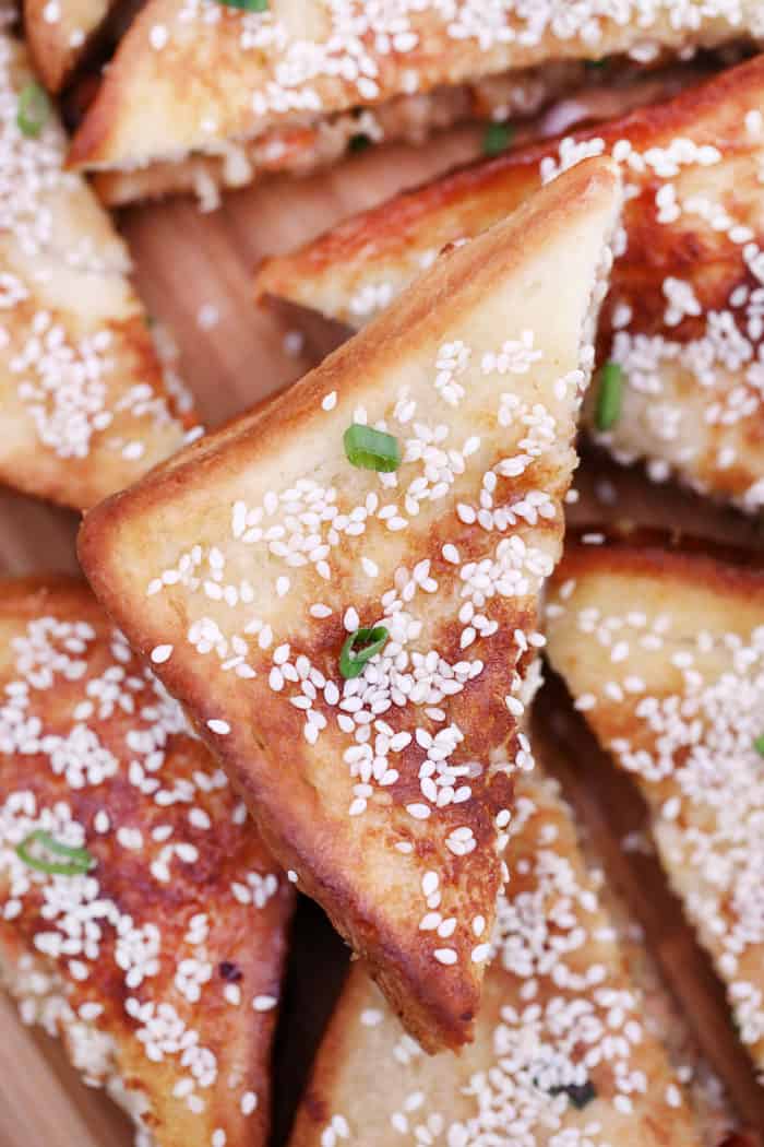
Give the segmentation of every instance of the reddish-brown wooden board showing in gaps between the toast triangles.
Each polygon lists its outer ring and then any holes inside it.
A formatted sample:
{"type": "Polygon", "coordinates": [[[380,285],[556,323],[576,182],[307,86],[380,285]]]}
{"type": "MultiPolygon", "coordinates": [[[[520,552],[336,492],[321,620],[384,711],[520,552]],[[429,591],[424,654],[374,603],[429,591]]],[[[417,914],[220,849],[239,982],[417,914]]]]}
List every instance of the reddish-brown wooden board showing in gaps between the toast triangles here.
{"type": "MultiPolygon", "coordinates": [[[[474,132],[438,140],[426,150],[367,153],[341,170],[305,182],[271,182],[227,198],[203,216],[189,201],[133,209],[121,220],[132,247],[139,287],[149,310],[168,325],[182,373],[203,418],[214,427],[299,377],[341,337],[314,315],[285,309],[258,311],[252,273],[267,253],[307,240],[353,210],[427,178],[474,154],[474,132]],[[200,309],[218,313],[204,327],[200,309]],[[302,331],[299,356],[284,349],[289,331],[302,331]]],[[[292,340],[293,341],[293,340],[292,340]]],[[[669,486],[653,486],[586,455],[578,476],[577,521],[631,520],[683,526],[720,540],[764,547],[764,529],[731,510],[669,486]]],[[[76,568],[74,515],[0,492],[0,572],[76,568]]],[[[589,825],[611,877],[622,889],[657,955],[687,1022],[723,1077],[739,1114],[764,1128],[764,1089],[735,1041],[720,989],[656,861],[624,853],[624,835],[639,827],[644,809],[627,778],[616,775],[570,710],[559,682],[541,694],[538,715],[560,750],[558,772],[589,825]]],[[[276,1046],[276,1130],[282,1142],[307,1071],[312,1048],[341,983],[346,954],[317,908],[298,912],[285,1004],[276,1046]]],[[[126,1147],[127,1121],[99,1092],[74,1077],[61,1048],[24,1029],[0,997],[0,1147],[126,1147]]],[[[244,1145],[230,1145],[244,1147],[244,1145]]]]}

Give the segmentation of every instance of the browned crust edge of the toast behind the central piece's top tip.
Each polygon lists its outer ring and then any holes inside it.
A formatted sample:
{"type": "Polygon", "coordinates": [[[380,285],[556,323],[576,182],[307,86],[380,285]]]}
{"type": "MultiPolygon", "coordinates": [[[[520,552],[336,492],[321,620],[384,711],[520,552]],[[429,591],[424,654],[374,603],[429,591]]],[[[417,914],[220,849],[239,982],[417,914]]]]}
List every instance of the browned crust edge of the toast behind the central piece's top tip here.
{"type": "MultiPolygon", "coordinates": [[[[664,103],[651,102],[648,107],[636,108],[609,123],[575,131],[569,138],[576,142],[601,139],[611,148],[617,140],[625,139],[635,149],[645,151],[680,133],[692,135],[693,128],[707,123],[706,132],[711,135],[717,124],[734,123],[739,126],[741,109],[753,102],[747,96],[759,89],[764,83],[763,75],[764,64],[759,56],[683,91],[664,103]]],[[[297,251],[267,259],[255,280],[258,297],[273,294],[305,306],[313,304],[314,309],[332,318],[340,318],[354,327],[361,326],[363,315],[359,314],[353,320],[347,310],[351,286],[356,289],[363,286],[371,280],[372,272],[376,281],[384,281],[385,274],[389,272],[393,275],[399,265],[408,281],[413,274],[413,260],[423,250],[440,250],[455,240],[479,234],[504,218],[538,188],[539,163],[553,154],[561,139],[529,142],[495,159],[470,164],[420,187],[401,192],[369,211],[352,216],[297,251]],[[330,287],[330,274],[342,290],[333,307],[328,305],[331,299],[324,299],[322,294],[330,287]]],[[[719,143],[725,140],[726,133],[719,143]]],[[[732,143],[732,140],[727,141],[728,147],[732,143]]],[[[640,226],[639,237],[644,241],[647,237],[646,221],[633,209],[627,212],[627,225],[632,219],[640,226]]],[[[668,242],[671,239],[670,228],[665,228],[665,236],[668,242]]],[[[651,231],[649,243],[654,244],[656,234],[651,231]]],[[[644,250],[643,242],[635,244],[635,257],[640,250],[644,250]]],[[[670,265],[672,260],[660,256],[651,262],[662,266],[664,263],[670,265]]],[[[616,264],[616,282],[620,274],[621,266],[616,264]]]]}

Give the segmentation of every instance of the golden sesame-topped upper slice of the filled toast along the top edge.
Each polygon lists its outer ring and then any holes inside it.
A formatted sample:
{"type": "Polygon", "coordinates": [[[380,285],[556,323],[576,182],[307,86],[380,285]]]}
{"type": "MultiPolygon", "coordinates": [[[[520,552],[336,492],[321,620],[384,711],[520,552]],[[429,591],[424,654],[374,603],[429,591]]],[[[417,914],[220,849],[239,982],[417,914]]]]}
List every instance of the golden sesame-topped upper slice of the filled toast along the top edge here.
{"type": "Polygon", "coordinates": [[[668,2],[651,17],[629,5],[625,18],[615,21],[585,6],[572,11],[554,3],[539,19],[507,5],[491,28],[476,26],[466,6],[455,18],[442,6],[418,5],[391,25],[385,14],[368,16],[357,3],[349,38],[346,7],[322,0],[271,0],[260,16],[230,9],[210,16],[186,0],[151,0],[120,44],[71,162],[143,166],[214,153],[221,140],[376,107],[412,88],[628,52],[646,36],[676,52],[761,34],[755,0],[735,7],[734,19],[693,6],[683,21],[668,2]]]}

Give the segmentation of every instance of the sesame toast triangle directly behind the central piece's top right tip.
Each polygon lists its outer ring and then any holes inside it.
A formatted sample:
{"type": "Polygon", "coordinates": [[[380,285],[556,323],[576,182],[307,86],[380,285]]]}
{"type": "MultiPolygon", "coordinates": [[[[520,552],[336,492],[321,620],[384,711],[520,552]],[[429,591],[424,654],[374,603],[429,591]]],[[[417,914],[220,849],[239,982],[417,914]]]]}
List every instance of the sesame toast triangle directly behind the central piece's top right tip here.
{"type": "Polygon", "coordinates": [[[609,415],[592,387],[585,421],[621,461],[675,471],[746,510],[764,505],[764,56],[708,84],[562,140],[507,153],[399,195],[294,256],[258,290],[353,327],[436,257],[591,154],[627,184],[624,236],[598,330],[598,362],[621,366],[609,415]]]}

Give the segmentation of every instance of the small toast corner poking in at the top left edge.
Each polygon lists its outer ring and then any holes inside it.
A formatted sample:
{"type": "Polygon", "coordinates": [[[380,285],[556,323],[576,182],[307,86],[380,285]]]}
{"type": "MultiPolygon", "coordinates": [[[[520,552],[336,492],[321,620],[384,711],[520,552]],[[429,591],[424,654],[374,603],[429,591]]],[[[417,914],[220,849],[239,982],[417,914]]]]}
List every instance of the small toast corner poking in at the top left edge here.
{"type": "Polygon", "coordinates": [[[24,0],[24,34],[38,76],[60,92],[118,0],[24,0]]]}

